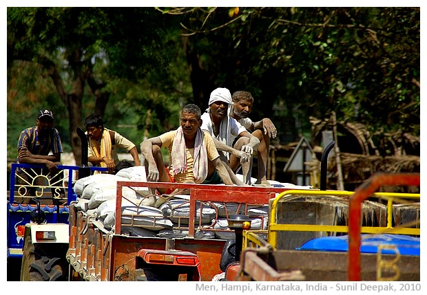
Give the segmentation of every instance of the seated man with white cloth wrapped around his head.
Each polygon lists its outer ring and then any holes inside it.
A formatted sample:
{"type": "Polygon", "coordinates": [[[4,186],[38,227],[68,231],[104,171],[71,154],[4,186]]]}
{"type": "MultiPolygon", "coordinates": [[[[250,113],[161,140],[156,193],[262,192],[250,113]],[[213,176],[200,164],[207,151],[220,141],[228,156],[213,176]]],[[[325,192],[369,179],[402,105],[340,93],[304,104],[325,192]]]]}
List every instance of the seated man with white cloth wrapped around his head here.
{"type": "Polygon", "coordinates": [[[244,184],[250,184],[251,163],[253,151],[258,149],[260,140],[251,135],[236,119],[231,118],[231,93],[227,88],[217,88],[211,92],[209,98],[209,109],[203,113],[203,131],[209,133],[216,148],[220,151],[220,157],[229,168],[231,179],[236,184],[241,182],[234,174],[242,164],[242,174],[244,184]],[[233,146],[234,140],[238,138],[233,146]]]}

